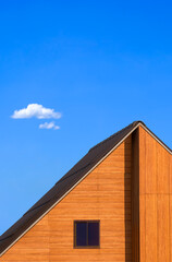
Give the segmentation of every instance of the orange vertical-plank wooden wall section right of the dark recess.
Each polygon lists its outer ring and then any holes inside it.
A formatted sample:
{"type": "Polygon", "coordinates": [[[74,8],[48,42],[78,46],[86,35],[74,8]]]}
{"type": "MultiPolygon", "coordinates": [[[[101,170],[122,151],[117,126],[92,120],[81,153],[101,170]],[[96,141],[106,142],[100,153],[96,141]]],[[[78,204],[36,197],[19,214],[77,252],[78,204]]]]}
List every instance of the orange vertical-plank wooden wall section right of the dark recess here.
{"type": "Polygon", "coordinates": [[[139,127],[140,262],[172,261],[172,155],[139,127]]]}

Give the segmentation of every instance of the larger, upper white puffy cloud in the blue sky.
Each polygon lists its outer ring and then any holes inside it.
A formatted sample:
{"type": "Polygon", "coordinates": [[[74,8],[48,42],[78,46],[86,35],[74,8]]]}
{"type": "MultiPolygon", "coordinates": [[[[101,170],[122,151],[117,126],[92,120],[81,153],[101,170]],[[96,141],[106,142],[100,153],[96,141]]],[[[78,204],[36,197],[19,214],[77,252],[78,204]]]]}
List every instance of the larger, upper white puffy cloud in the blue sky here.
{"type": "Polygon", "coordinates": [[[61,118],[60,112],[56,112],[54,109],[46,108],[42,105],[29,104],[26,108],[15,110],[12,115],[14,119],[22,118],[38,118],[38,119],[49,119],[49,118],[61,118]]]}

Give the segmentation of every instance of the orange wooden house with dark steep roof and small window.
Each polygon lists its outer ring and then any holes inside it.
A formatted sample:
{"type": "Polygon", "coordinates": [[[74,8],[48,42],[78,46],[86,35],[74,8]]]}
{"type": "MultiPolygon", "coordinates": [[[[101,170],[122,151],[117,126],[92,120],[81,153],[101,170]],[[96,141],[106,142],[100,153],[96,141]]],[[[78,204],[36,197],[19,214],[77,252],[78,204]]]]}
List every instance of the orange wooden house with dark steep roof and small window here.
{"type": "Polygon", "coordinates": [[[140,121],[97,144],[0,237],[0,261],[171,262],[172,151],[140,121]]]}

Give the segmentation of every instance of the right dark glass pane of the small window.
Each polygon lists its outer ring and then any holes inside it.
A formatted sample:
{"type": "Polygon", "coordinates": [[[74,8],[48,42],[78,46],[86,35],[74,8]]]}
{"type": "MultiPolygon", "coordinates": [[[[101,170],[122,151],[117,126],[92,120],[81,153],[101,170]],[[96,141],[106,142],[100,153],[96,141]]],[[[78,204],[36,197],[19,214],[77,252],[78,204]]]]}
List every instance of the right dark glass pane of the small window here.
{"type": "Polygon", "coordinates": [[[88,223],[88,246],[99,246],[99,223],[88,223]]]}

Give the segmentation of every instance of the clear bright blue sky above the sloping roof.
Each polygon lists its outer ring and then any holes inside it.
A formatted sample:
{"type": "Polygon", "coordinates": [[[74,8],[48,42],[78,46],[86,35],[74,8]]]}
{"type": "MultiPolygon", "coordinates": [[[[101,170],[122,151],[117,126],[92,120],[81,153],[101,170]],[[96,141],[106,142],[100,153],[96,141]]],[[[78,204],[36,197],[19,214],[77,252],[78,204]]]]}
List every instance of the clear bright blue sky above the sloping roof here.
{"type": "Polygon", "coordinates": [[[0,234],[132,121],[172,147],[171,11],[170,1],[0,0],[0,234]],[[61,118],[11,117],[30,104],[61,118]],[[52,121],[60,129],[39,128],[52,121]]]}

